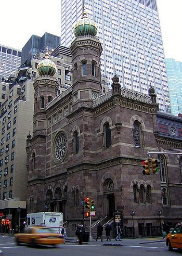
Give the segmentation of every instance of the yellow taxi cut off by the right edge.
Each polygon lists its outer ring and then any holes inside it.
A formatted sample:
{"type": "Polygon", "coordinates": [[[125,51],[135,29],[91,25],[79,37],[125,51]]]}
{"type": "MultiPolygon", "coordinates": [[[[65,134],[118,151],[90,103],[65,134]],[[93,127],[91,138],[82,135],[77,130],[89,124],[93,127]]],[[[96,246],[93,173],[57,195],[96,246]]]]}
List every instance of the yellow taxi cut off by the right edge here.
{"type": "Polygon", "coordinates": [[[182,222],[178,223],[171,233],[166,236],[166,246],[170,251],[173,248],[182,249],[182,222]]]}

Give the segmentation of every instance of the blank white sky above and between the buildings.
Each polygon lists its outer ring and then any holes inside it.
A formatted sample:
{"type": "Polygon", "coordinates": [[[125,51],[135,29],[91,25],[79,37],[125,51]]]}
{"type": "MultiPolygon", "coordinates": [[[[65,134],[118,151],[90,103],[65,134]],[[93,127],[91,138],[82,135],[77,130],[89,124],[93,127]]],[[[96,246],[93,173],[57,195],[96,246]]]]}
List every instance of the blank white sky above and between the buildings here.
{"type": "MultiPolygon", "coordinates": [[[[30,37],[60,36],[60,0],[2,0],[0,44],[21,50],[30,37]],[[50,4],[53,6],[51,7],[50,4]]],[[[157,0],[165,58],[182,62],[182,0],[157,0]]]]}

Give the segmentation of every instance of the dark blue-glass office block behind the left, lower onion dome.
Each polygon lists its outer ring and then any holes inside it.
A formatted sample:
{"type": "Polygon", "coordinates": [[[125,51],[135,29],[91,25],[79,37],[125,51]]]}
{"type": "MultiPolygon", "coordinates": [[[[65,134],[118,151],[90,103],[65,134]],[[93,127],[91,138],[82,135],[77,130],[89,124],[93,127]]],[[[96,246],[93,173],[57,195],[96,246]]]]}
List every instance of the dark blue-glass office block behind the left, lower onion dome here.
{"type": "Polygon", "coordinates": [[[42,37],[32,35],[29,41],[22,48],[21,67],[30,67],[31,60],[36,53],[45,53],[48,50],[52,53],[60,45],[60,37],[57,35],[45,33],[42,37]]]}

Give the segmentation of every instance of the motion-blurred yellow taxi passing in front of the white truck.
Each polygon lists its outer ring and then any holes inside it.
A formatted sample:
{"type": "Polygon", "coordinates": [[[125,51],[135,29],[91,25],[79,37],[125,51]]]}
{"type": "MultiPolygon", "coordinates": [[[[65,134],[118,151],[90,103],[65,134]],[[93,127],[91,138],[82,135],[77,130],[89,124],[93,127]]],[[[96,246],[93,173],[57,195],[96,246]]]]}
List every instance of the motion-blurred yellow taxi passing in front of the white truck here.
{"type": "Polygon", "coordinates": [[[53,233],[51,228],[45,226],[34,226],[27,228],[25,233],[16,234],[17,244],[35,245],[59,245],[64,244],[61,234],[53,233]]]}

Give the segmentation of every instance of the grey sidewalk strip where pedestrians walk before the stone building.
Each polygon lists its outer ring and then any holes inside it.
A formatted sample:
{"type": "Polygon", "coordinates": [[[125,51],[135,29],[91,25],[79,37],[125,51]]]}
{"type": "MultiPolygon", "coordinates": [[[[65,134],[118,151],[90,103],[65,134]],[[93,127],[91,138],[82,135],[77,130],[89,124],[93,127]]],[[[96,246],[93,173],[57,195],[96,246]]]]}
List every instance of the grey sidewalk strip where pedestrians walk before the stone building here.
{"type": "MultiPolygon", "coordinates": [[[[68,236],[66,239],[66,243],[68,242],[73,242],[75,244],[79,244],[78,241],[76,241],[76,237],[70,237],[68,236]]],[[[92,242],[83,242],[83,245],[122,245],[122,246],[126,246],[126,245],[133,245],[133,246],[137,246],[137,245],[141,245],[141,244],[149,244],[149,243],[153,243],[153,242],[164,242],[165,243],[165,239],[163,239],[162,237],[147,237],[147,238],[122,238],[121,241],[116,241],[114,238],[111,239],[111,241],[107,241],[106,239],[103,239],[103,241],[101,242],[101,240],[95,240],[93,238],[92,242]]]]}

